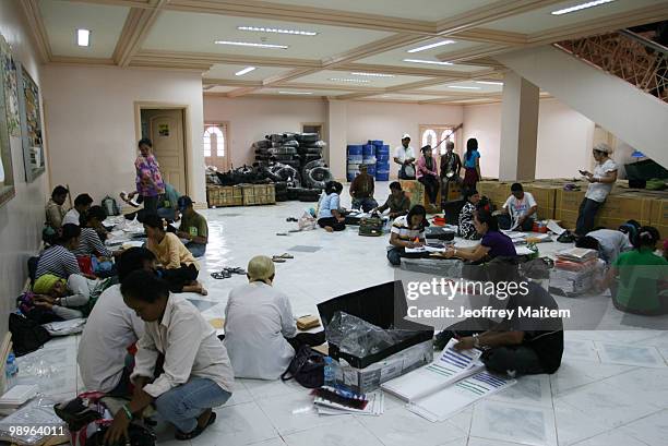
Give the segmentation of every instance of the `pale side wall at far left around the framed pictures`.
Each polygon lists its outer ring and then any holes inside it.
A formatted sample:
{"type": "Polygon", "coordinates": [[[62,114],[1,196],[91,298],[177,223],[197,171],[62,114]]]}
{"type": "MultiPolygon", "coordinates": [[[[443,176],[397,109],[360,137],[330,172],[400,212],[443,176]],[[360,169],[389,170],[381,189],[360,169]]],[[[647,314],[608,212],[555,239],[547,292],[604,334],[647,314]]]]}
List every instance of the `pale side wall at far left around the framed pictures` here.
{"type": "MultiPolygon", "coordinates": [[[[17,1],[0,2],[0,33],[12,47],[15,60],[43,87],[43,68],[17,1]]],[[[48,173],[29,184],[25,182],[21,138],[10,140],[16,196],[0,207],[0,336],[8,330],[9,313],[15,310],[15,299],[27,278],[27,258],[39,250],[44,206],[50,194],[48,173]]],[[[45,146],[48,156],[48,135],[45,146]]]]}

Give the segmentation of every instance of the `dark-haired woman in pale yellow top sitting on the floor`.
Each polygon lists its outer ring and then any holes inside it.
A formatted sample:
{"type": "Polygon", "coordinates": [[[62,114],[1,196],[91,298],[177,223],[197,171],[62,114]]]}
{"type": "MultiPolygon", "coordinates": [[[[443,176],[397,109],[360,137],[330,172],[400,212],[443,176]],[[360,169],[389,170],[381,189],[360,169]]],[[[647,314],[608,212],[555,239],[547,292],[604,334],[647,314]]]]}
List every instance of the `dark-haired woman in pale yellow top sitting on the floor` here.
{"type": "Polygon", "coordinates": [[[198,281],[200,264],[177,234],[165,231],[163,219],[156,214],[146,215],[144,230],[147,237],[146,248],[155,254],[157,263],[165,268],[160,270],[160,274],[169,284],[169,290],[208,294],[198,281]]]}

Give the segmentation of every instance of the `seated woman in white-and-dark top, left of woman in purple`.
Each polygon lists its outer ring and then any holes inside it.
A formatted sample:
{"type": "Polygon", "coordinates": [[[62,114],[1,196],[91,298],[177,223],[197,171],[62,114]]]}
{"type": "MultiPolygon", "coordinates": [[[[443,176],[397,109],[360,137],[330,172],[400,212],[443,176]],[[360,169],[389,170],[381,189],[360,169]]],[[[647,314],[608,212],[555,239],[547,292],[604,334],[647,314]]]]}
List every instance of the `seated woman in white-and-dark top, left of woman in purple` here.
{"type": "Polygon", "coordinates": [[[425,226],[427,224],[427,209],[422,205],[415,205],[408,215],[396,217],[390,230],[390,248],[387,260],[394,266],[402,264],[406,248],[419,248],[425,244],[425,226]]]}

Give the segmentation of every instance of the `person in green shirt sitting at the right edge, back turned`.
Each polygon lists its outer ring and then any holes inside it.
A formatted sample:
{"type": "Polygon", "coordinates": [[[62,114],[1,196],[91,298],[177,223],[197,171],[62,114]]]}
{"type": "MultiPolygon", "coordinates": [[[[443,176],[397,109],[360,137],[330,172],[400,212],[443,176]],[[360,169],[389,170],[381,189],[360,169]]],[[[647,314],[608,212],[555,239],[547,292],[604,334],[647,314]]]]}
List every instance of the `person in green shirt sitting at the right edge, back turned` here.
{"type": "Polygon", "coordinates": [[[612,263],[604,287],[612,288],[618,310],[646,316],[668,314],[668,261],[654,254],[659,240],[656,228],[643,226],[632,240],[635,249],[612,263]]]}

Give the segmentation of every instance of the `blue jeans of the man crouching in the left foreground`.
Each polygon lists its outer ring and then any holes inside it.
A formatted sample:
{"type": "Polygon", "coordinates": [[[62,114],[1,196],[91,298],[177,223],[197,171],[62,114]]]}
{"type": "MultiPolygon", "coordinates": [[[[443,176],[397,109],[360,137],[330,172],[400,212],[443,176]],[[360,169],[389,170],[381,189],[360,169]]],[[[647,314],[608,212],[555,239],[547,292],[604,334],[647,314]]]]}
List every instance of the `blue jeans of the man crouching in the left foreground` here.
{"type": "Polygon", "coordinates": [[[157,397],[158,413],[183,433],[194,431],[198,418],[207,409],[223,406],[231,397],[208,378],[192,377],[188,383],[157,397]]]}

